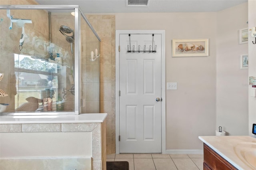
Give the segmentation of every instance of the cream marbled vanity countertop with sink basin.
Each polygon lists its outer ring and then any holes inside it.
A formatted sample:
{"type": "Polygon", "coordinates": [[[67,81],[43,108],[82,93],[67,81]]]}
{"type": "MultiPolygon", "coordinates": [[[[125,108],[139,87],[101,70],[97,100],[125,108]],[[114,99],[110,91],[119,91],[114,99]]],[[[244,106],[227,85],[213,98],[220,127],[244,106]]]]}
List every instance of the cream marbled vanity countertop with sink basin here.
{"type": "Polygon", "coordinates": [[[252,161],[256,160],[256,138],[252,136],[199,136],[199,139],[238,170],[256,170],[254,165],[248,163],[239,154],[241,153],[239,152],[240,148],[246,149],[246,147],[249,147],[250,154],[254,155],[250,155],[250,158],[252,161]],[[242,147],[238,148],[238,146],[242,147]]]}

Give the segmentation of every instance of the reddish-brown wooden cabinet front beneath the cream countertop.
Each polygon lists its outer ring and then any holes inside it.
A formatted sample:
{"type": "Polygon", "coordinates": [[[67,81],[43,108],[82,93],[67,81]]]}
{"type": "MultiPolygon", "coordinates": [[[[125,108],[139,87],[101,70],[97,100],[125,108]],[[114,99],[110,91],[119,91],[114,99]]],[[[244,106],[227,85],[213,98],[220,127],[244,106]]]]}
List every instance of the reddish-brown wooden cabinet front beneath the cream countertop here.
{"type": "Polygon", "coordinates": [[[237,170],[212,148],[204,143],[204,170],[237,170]]]}

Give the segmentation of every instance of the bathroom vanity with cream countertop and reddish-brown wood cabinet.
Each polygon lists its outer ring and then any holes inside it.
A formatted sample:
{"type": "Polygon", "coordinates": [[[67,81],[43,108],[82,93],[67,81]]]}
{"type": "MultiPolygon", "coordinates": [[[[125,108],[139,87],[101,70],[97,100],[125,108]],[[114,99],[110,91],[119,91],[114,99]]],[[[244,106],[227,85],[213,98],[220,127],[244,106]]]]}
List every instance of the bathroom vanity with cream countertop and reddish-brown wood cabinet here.
{"type": "Polygon", "coordinates": [[[199,136],[204,142],[204,170],[256,170],[256,138],[199,136]]]}

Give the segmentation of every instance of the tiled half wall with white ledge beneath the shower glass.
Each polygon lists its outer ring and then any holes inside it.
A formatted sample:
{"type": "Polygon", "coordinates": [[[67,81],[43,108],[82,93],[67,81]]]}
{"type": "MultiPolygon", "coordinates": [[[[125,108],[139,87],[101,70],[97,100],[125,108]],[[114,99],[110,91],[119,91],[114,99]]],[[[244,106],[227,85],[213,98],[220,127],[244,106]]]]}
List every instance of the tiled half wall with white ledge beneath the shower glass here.
{"type": "Polygon", "coordinates": [[[106,170],[106,116],[0,116],[0,170],[106,170]]]}

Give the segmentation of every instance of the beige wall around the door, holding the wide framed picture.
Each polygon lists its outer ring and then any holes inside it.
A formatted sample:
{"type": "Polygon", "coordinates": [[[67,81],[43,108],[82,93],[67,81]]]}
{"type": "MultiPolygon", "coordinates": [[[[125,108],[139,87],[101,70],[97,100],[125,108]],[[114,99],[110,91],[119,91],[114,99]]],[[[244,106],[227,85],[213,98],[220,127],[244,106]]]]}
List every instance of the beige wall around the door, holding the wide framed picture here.
{"type": "Polygon", "coordinates": [[[166,150],[201,149],[198,136],[215,134],[216,13],[116,14],[124,29],[166,30],[166,82],[178,87],[166,90],[166,150]],[[182,38],[209,38],[209,56],[172,57],[182,38]]]}

